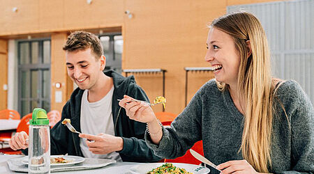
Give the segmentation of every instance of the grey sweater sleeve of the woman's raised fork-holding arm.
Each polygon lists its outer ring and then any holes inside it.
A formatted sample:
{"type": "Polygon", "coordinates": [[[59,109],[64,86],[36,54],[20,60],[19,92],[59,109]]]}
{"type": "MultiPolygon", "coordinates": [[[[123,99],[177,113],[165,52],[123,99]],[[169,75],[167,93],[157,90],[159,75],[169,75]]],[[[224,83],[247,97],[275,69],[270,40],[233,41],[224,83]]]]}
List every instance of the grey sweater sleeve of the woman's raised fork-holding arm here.
{"type": "Polygon", "coordinates": [[[159,145],[154,144],[149,134],[145,139],[156,155],[174,159],[183,156],[194,143],[202,139],[202,88],[197,91],[186,109],[172,122],[171,127],[163,127],[163,137],[159,145]]]}

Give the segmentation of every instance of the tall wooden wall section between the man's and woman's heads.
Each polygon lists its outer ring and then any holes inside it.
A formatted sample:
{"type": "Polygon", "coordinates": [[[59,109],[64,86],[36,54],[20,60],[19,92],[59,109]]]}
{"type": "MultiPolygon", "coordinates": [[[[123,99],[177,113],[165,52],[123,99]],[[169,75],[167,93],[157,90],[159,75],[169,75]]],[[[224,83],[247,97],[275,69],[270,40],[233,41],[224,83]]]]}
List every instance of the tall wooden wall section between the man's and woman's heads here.
{"type": "MultiPolygon", "coordinates": [[[[179,0],[163,0],[158,1],[157,6],[151,6],[150,3],[150,1],[126,1],[126,8],[135,15],[132,19],[125,17],[124,40],[127,45],[124,49],[122,65],[125,69],[167,70],[165,111],[178,114],[185,106],[184,67],[209,66],[204,61],[207,23],[225,13],[226,2],[198,0],[182,3],[179,0]],[[142,8],[143,6],[146,8],[142,8]]],[[[161,77],[148,74],[145,77],[135,77],[151,100],[162,94],[161,77]]],[[[195,81],[204,84],[212,77],[213,75],[209,73],[205,79],[197,77],[193,81],[190,80],[188,96],[192,96],[201,86],[194,86],[195,81]]],[[[156,106],[154,111],[162,111],[162,106],[156,106]]]]}

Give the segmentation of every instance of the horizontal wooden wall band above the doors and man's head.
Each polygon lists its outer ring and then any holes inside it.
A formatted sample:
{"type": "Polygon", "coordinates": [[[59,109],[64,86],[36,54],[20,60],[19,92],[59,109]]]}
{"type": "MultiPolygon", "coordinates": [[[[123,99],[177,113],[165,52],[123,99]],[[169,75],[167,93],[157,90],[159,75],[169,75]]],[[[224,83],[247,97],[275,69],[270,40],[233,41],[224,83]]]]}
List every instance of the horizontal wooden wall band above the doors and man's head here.
{"type": "Polygon", "coordinates": [[[0,4],[0,37],[121,26],[124,17],[124,0],[91,4],[86,0],[0,0],[0,4]]]}

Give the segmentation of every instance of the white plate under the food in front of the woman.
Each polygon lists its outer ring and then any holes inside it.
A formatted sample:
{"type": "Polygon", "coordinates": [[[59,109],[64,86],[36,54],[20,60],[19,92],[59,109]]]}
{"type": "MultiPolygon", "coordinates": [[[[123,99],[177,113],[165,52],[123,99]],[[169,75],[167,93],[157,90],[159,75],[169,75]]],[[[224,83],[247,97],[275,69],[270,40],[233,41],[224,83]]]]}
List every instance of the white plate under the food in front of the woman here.
{"type": "MultiPolygon", "coordinates": [[[[130,173],[137,174],[146,174],[147,172],[153,170],[153,168],[157,168],[165,163],[149,163],[149,164],[138,164],[130,168],[130,173]]],[[[204,166],[197,166],[194,164],[184,164],[184,163],[172,163],[174,166],[179,168],[184,168],[186,171],[194,173],[194,174],[203,174],[209,173],[209,168],[205,168],[204,166]]]]}

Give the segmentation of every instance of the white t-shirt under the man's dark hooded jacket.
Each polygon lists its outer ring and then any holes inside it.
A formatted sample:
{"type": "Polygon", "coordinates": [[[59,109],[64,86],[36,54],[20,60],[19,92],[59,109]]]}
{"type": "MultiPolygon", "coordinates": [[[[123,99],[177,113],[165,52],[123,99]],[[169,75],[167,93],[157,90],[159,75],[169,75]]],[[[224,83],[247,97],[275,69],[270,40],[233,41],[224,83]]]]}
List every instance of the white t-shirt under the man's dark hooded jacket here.
{"type": "MultiPolygon", "coordinates": [[[[81,104],[81,132],[84,134],[98,135],[100,133],[114,136],[114,123],[112,120],[112,95],[114,87],[97,102],[87,100],[88,90],[84,90],[81,104]]],[[[122,161],[119,153],[111,152],[105,155],[97,155],[89,151],[86,139],[80,139],[80,148],[84,157],[87,158],[105,158],[122,161]]]]}

